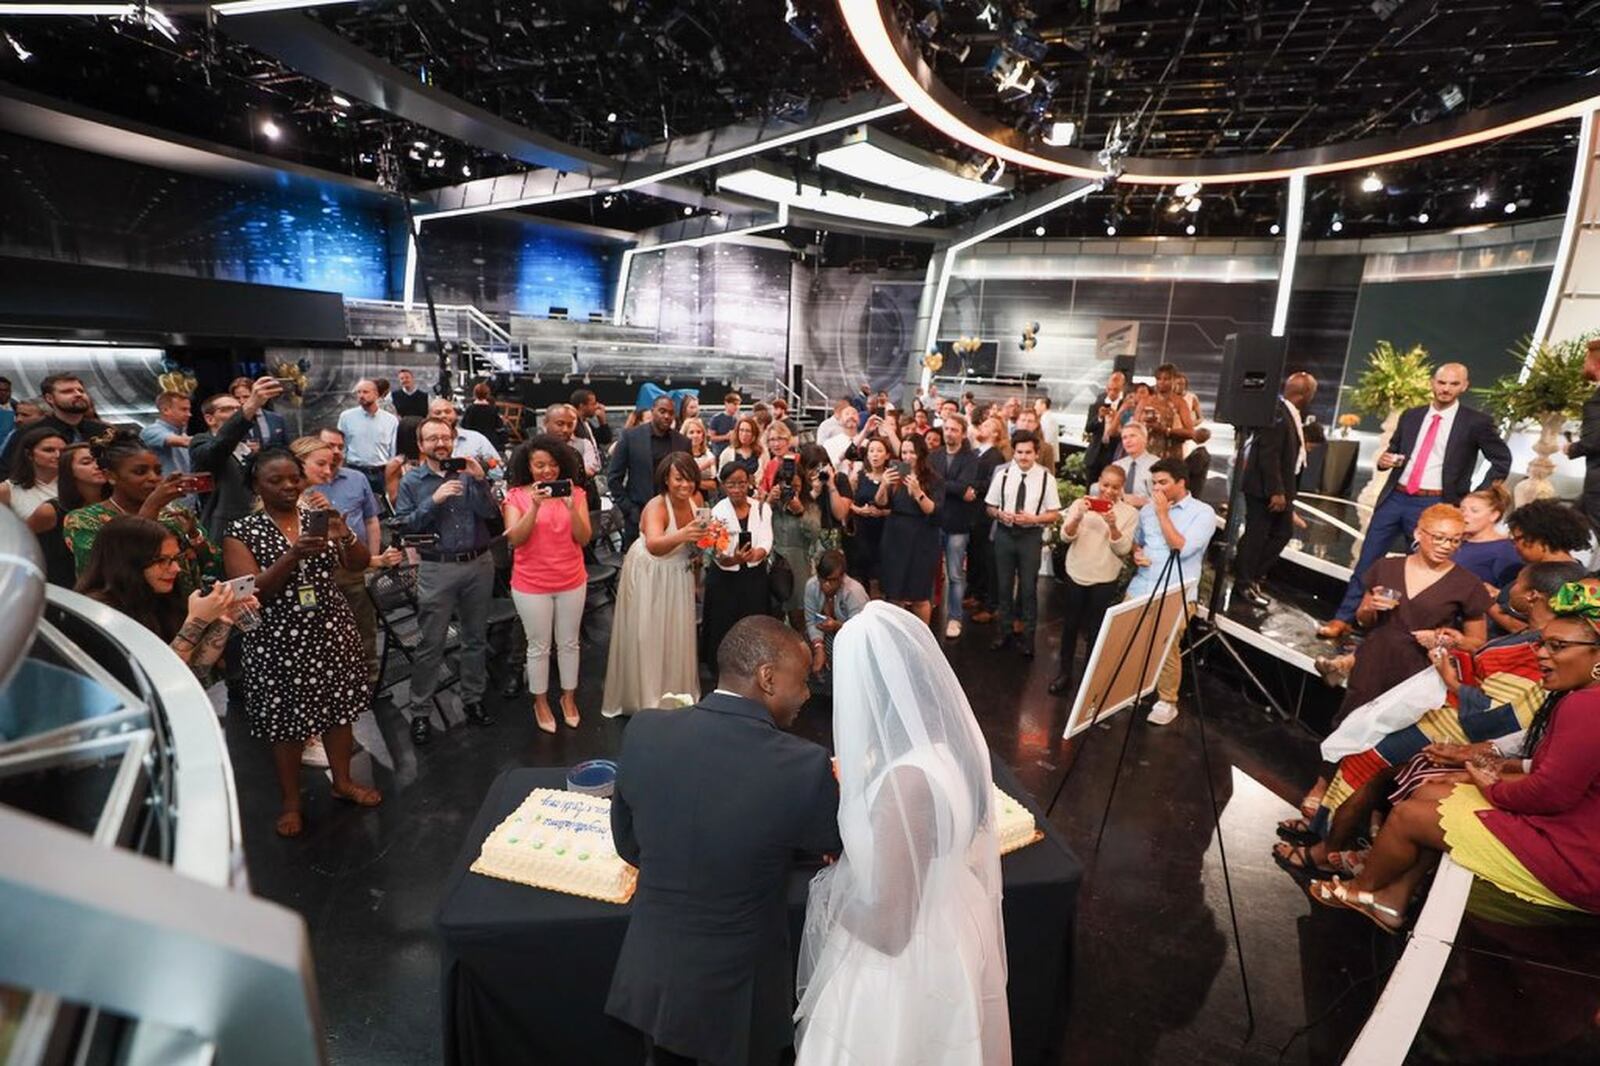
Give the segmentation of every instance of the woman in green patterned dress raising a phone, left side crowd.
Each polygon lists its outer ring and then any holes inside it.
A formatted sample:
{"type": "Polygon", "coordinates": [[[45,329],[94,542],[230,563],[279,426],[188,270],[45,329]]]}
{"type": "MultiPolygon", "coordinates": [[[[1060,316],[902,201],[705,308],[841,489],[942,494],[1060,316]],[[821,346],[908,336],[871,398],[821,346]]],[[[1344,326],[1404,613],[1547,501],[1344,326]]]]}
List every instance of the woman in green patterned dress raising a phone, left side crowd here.
{"type": "Polygon", "coordinates": [[[194,491],[189,475],[174,472],[162,477],[162,461],[139,442],[138,434],[126,429],[96,437],[90,451],[106,472],[110,496],[69,512],[61,522],[62,538],[80,576],[88,567],[99,531],[120,514],[154,519],[178,538],[186,595],[198,589],[205,578],[222,576],[222,552],[206,536],[195,514],[174,503],[194,491]]]}

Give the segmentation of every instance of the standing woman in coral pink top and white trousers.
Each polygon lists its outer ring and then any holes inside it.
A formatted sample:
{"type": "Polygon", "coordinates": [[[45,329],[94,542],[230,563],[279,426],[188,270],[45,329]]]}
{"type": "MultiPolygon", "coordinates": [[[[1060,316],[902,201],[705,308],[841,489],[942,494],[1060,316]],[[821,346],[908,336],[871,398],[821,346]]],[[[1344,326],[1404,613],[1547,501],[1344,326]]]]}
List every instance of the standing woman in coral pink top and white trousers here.
{"type": "Polygon", "coordinates": [[[510,456],[506,474],[506,543],[512,549],[510,599],[528,634],[533,715],[546,733],[550,714],[550,645],[562,671],[562,720],[578,728],[578,632],[589,571],[589,503],[578,453],[555,437],[534,437],[510,456]]]}

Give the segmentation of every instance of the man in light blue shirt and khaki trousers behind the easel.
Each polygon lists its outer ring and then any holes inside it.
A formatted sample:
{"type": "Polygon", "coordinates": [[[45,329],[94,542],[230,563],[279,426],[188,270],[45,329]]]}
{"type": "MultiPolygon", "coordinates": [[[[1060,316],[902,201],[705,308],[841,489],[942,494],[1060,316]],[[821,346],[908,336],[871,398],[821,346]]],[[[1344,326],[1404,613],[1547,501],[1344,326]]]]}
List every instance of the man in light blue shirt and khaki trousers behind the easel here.
{"type": "MultiPolygon", "coordinates": [[[[1200,565],[1205,549],[1216,533],[1216,511],[1198,496],[1189,495],[1189,467],[1182,459],[1162,459],[1150,467],[1150,503],[1139,511],[1139,528],[1133,535],[1133,565],[1139,570],[1128,583],[1128,600],[1139,600],[1155,591],[1166,570],[1166,560],[1178,554],[1178,563],[1168,575],[1168,589],[1181,579],[1187,586],[1200,581],[1200,565]]],[[[1194,600],[1194,591],[1186,594],[1194,600]]],[[[1187,624],[1187,616],[1181,624],[1187,624]]],[[[1162,663],[1155,682],[1155,706],[1149,722],[1168,725],[1178,717],[1178,687],[1182,682],[1179,640],[1162,663]]]]}

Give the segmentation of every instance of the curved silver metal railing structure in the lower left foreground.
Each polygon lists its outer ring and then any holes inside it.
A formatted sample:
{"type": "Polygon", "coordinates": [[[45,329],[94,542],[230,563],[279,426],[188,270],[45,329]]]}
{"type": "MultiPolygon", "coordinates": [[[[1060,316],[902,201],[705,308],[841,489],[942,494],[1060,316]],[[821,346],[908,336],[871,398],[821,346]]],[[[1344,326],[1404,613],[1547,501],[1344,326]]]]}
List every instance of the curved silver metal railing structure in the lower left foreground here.
{"type": "Polygon", "coordinates": [[[6,1066],[325,1061],[306,927],[248,893],[205,690],[154,632],[46,587],[8,509],[0,595],[6,1066]]]}

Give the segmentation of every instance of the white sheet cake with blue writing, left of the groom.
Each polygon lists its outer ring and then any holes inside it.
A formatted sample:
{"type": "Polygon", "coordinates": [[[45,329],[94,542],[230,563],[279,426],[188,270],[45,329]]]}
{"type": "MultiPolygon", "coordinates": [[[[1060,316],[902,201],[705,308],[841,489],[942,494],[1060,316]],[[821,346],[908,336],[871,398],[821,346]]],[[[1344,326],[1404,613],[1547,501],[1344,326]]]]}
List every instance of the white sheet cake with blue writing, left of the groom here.
{"type": "Polygon", "coordinates": [[[611,840],[611,800],[534,789],[494,828],[472,872],[574,896],[627,903],[638,871],[611,840]]]}

